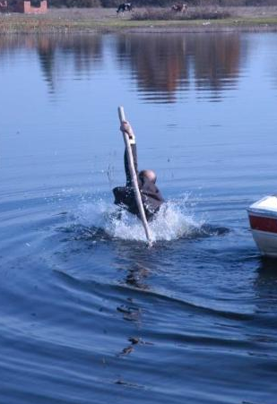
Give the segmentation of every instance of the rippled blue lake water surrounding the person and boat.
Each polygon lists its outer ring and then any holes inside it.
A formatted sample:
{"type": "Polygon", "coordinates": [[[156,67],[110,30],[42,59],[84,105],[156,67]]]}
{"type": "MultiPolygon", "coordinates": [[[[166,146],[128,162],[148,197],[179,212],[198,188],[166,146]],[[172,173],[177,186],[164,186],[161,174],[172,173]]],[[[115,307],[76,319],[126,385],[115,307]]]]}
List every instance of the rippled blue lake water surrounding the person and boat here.
{"type": "Polygon", "coordinates": [[[1,404],[275,404],[277,34],[0,37],[1,404]],[[117,106],[168,203],[112,219],[117,106]]]}

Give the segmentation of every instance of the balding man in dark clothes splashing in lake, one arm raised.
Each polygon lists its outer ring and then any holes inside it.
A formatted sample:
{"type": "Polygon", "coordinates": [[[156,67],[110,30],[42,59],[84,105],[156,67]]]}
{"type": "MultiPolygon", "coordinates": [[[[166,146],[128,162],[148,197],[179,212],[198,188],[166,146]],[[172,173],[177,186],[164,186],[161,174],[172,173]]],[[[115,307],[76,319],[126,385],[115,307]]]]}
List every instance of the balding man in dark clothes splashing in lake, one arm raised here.
{"type": "MultiPolygon", "coordinates": [[[[142,195],[143,208],[145,211],[146,219],[151,220],[155,213],[160,210],[161,204],[164,202],[160,190],[156,185],[157,176],[151,169],[144,169],[138,173],[137,170],[137,155],[135,136],[131,125],[128,122],[123,122],[120,126],[122,132],[126,132],[130,139],[134,158],[134,169],[137,176],[138,186],[142,195]]],[[[134,189],[132,185],[132,178],[125,150],[124,163],[126,171],[126,186],[117,186],[113,189],[115,195],[115,203],[127,209],[136,216],[140,216],[137,204],[134,197],[134,189]]]]}

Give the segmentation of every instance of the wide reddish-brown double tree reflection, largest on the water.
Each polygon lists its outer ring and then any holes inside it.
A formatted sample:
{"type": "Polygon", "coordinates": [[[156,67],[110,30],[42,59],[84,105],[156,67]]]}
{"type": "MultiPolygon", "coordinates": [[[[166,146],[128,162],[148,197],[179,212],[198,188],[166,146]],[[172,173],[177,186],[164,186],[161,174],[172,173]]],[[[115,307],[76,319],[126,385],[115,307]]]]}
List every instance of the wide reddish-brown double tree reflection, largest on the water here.
{"type": "Polygon", "coordinates": [[[233,87],[238,80],[241,54],[246,57],[247,49],[236,33],[220,37],[138,35],[117,41],[121,68],[130,65],[138,90],[143,97],[151,94],[151,101],[174,102],[177,91],[186,91],[194,82],[197,90],[212,90],[219,98],[222,89],[233,87]]]}

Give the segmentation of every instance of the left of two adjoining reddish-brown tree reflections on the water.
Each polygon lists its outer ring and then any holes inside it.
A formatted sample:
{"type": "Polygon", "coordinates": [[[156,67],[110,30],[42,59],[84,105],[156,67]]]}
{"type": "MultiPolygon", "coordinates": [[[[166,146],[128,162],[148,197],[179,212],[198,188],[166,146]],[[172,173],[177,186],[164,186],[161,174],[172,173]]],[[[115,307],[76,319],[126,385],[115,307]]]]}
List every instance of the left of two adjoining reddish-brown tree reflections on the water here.
{"type": "Polygon", "coordinates": [[[186,37],[134,35],[119,37],[117,56],[119,63],[129,64],[140,91],[163,94],[174,99],[177,86],[186,89],[188,64],[186,63],[186,37]],[[181,82],[181,83],[180,83],[181,82]]]}

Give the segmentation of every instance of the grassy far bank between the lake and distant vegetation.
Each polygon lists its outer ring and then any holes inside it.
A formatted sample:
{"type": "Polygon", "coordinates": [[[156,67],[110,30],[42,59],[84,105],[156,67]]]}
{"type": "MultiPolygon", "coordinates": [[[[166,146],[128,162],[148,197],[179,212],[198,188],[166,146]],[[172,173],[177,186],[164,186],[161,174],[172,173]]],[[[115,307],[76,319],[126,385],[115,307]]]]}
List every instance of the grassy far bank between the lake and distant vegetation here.
{"type": "Polygon", "coordinates": [[[60,33],[114,31],[277,30],[277,7],[236,7],[218,20],[134,21],[114,9],[50,10],[45,15],[0,14],[0,33],[60,33]]]}

